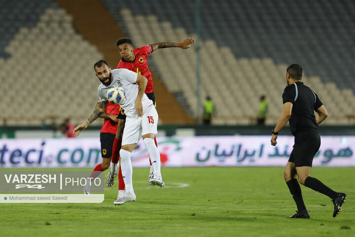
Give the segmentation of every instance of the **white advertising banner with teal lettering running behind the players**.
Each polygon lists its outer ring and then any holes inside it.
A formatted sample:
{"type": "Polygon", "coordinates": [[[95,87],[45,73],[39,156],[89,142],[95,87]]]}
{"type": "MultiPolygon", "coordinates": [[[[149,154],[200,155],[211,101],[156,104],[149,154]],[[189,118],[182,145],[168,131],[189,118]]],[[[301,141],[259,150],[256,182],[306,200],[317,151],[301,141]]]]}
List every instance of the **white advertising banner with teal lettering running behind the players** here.
{"type": "MultiPolygon", "coordinates": [[[[293,137],[279,136],[161,137],[158,149],[165,167],[285,166],[293,137]]],[[[99,138],[1,139],[0,168],[94,167],[102,162],[99,138]]],[[[355,166],[355,136],[323,136],[313,166],[355,166]]],[[[132,153],[134,167],[148,167],[141,142],[132,153]]]]}

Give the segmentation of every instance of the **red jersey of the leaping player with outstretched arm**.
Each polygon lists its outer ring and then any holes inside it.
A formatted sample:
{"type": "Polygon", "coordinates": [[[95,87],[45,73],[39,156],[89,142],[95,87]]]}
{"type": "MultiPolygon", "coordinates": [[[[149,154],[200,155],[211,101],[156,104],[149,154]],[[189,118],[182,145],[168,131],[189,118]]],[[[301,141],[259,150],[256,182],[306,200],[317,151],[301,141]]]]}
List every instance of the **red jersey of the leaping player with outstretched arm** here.
{"type": "Polygon", "coordinates": [[[133,53],[135,54],[135,59],[132,62],[126,61],[122,58],[117,66],[117,68],[126,68],[130,71],[133,71],[146,77],[148,82],[144,91],[145,94],[153,92],[153,81],[151,79],[151,73],[149,71],[147,63],[148,54],[151,52],[153,52],[153,47],[151,46],[151,44],[136,48],[133,50],[133,53]]]}

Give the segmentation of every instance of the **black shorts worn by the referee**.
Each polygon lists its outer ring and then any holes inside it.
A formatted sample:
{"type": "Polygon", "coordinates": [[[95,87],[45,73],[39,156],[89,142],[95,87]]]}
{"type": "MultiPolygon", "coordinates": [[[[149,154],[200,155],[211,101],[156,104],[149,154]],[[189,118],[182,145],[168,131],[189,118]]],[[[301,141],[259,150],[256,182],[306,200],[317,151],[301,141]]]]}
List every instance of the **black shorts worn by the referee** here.
{"type": "Polygon", "coordinates": [[[320,135],[307,134],[302,136],[295,136],[295,144],[288,159],[293,162],[295,166],[310,166],[312,167],[313,158],[320,148],[320,135]]]}

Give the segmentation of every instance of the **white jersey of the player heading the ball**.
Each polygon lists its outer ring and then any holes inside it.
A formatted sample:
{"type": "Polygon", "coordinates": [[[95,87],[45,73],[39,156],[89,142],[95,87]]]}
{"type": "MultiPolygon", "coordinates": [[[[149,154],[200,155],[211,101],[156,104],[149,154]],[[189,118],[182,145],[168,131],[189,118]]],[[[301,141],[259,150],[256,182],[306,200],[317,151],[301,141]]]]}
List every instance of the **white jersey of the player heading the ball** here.
{"type": "MultiPolygon", "coordinates": [[[[126,99],[124,99],[119,105],[124,109],[126,116],[137,116],[136,111],[136,99],[139,91],[139,85],[136,83],[138,74],[125,68],[112,70],[112,82],[106,86],[103,83],[98,88],[98,95],[100,102],[107,101],[107,90],[112,85],[122,87],[126,92],[126,99]]],[[[142,105],[144,110],[153,104],[153,101],[149,100],[146,94],[143,94],[142,105]]]]}

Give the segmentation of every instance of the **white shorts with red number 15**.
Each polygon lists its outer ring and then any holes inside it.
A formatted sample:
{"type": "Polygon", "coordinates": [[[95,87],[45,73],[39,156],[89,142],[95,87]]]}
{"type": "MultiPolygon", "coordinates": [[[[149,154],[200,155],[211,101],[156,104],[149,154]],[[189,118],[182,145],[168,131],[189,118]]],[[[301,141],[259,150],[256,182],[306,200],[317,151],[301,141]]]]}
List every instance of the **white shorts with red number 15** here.
{"type": "Polygon", "coordinates": [[[151,105],[143,111],[142,117],[128,117],[126,118],[125,128],[122,136],[122,146],[129,144],[137,144],[141,137],[148,133],[156,135],[158,127],[158,113],[151,105]]]}

